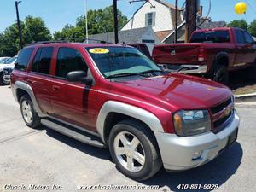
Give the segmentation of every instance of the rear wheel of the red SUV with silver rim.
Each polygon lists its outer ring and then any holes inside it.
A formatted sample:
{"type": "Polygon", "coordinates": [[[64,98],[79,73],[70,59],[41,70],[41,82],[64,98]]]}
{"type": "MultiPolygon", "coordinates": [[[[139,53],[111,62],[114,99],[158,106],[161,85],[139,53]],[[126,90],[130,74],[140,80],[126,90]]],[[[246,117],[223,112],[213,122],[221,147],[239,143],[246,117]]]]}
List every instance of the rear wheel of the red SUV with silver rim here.
{"type": "Polygon", "coordinates": [[[38,128],[41,125],[41,119],[38,117],[38,113],[35,111],[30,96],[24,95],[20,99],[20,112],[23,120],[28,127],[32,129],[38,128]]]}

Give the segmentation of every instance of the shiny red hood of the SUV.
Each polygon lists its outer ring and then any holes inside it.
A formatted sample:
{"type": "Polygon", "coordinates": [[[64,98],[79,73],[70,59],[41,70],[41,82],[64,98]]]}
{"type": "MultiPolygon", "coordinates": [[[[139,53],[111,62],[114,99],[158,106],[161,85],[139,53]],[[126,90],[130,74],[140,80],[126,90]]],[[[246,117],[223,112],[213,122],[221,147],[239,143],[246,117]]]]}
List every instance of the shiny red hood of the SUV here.
{"type": "Polygon", "coordinates": [[[140,99],[154,102],[169,110],[203,109],[228,99],[232,92],[223,84],[194,76],[173,73],[118,84],[140,99]]]}

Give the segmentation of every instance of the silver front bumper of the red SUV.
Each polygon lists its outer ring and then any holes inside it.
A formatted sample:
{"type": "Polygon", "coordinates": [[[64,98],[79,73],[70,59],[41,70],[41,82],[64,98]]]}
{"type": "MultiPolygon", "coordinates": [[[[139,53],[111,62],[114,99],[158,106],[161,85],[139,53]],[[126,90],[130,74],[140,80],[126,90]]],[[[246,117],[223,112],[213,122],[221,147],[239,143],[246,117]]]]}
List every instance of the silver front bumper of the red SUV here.
{"type": "Polygon", "coordinates": [[[166,170],[181,171],[201,166],[218,156],[226,148],[229,138],[238,130],[240,119],[234,119],[217,134],[207,132],[194,137],[178,137],[175,134],[154,132],[166,170]],[[194,158],[195,154],[200,154],[194,158]]]}

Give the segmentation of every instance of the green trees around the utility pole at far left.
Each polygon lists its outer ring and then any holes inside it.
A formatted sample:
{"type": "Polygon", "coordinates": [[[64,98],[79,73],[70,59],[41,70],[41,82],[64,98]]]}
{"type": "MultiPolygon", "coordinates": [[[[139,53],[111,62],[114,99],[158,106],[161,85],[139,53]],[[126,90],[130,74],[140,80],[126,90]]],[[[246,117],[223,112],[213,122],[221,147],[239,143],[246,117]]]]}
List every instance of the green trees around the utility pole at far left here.
{"type": "MultiPolygon", "coordinates": [[[[44,20],[39,17],[27,16],[25,22],[20,22],[24,44],[51,39],[49,29],[44,20]]],[[[0,55],[14,56],[20,50],[19,30],[17,24],[6,28],[0,35],[0,55]]]]}

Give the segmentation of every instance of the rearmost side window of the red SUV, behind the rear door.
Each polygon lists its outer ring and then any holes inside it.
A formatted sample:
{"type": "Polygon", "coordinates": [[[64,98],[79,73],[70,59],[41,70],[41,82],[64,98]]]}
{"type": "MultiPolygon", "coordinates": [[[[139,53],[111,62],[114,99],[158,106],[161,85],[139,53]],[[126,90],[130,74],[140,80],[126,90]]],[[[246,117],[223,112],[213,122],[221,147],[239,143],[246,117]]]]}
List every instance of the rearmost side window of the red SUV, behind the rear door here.
{"type": "Polygon", "coordinates": [[[27,64],[31,58],[34,48],[25,48],[20,51],[20,55],[15,64],[15,69],[25,71],[27,64]]]}

